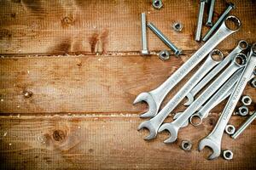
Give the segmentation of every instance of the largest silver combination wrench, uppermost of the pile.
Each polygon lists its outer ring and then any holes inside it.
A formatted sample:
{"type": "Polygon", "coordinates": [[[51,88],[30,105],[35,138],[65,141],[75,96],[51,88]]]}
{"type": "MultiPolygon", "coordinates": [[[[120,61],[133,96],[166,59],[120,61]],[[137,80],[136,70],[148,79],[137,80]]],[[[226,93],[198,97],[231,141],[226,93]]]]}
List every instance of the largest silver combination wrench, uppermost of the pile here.
{"type": "Polygon", "coordinates": [[[183,77],[185,77],[189,71],[192,71],[196,65],[198,65],[202,59],[204,59],[207,54],[209,54],[214,47],[222,42],[225,37],[230,36],[230,34],[236,32],[241,27],[241,22],[236,18],[236,16],[227,17],[222,25],[219,27],[218,31],[203,45],[199,48],[195,54],[193,54],[181,67],[175,71],[171,77],[169,77],[166,82],[163,82],[160,87],[148,93],[142,93],[137,96],[133,104],[145,101],[148,103],[149,111],[141,115],[140,117],[152,117],[157,114],[160,108],[160,104],[165,99],[166,94],[168,94],[173,87],[180,82],[183,77]],[[236,24],[236,29],[230,30],[225,24],[226,20],[233,21],[236,24]]]}

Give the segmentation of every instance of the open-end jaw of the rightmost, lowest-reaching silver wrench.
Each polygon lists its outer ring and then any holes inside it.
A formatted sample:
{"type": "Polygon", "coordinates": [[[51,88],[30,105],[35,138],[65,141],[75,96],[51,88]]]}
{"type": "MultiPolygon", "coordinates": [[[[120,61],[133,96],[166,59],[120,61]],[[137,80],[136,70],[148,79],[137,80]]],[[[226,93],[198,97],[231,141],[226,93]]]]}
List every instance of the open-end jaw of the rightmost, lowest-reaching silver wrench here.
{"type": "Polygon", "coordinates": [[[208,157],[209,160],[217,158],[221,153],[219,144],[216,144],[214,141],[212,141],[212,139],[205,138],[200,141],[198,150],[201,151],[205,147],[209,147],[212,149],[212,154],[208,157]]]}

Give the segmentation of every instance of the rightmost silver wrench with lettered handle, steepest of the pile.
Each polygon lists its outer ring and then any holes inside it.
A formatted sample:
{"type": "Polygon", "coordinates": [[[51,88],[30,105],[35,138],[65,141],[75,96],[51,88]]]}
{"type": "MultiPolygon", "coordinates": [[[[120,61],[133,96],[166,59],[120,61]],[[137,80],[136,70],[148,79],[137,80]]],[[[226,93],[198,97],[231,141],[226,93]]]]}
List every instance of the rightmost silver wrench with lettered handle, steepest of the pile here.
{"type": "Polygon", "coordinates": [[[253,44],[251,48],[251,52],[248,57],[247,65],[244,71],[241,74],[241,77],[236,83],[236,88],[230,96],[228,103],[224,107],[224,111],[221,116],[218,118],[218,122],[212,133],[210,133],[206,138],[202,139],[199,143],[199,151],[203,150],[206,146],[212,149],[212,155],[208,157],[208,159],[217,158],[221,152],[221,139],[224,133],[224,128],[228,124],[230,120],[230,116],[232,115],[237,102],[239,101],[242,91],[247,85],[249,78],[251,77],[254,67],[256,65],[256,43],[253,44]]]}

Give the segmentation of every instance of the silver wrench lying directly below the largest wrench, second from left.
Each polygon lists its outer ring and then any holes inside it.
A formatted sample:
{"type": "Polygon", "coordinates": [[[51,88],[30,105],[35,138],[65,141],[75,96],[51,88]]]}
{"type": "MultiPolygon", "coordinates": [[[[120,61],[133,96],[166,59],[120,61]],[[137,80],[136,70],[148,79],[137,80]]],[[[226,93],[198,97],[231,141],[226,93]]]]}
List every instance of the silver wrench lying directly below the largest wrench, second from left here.
{"type": "Polygon", "coordinates": [[[171,111],[178,105],[179,102],[183,100],[183,98],[186,96],[186,94],[189,93],[189,91],[195,86],[197,82],[201,80],[202,77],[204,77],[208,71],[211,71],[212,67],[217,65],[221,60],[223,59],[223,54],[218,50],[214,49],[212,50],[212,53],[210,53],[207,57],[207,60],[204,62],[203,65],[201,65],[200,69],[195,72],[195,74],[189,79],[188,82],[185,83],[183,88],[181,88],[177,94],[166,104],[164,109],[160,111],[159,114],[154,116],[152,119],[146,122],[142,122],[138,130],[140,130],[143,127],[148,127],[150,134],[145,139],[154,139],[154,137],[157,134],[157,130],[166,119],[166,116],[171,113],[171,111]],[[219,54],[218,60],[213,58],[213,54],[219,54]]]}

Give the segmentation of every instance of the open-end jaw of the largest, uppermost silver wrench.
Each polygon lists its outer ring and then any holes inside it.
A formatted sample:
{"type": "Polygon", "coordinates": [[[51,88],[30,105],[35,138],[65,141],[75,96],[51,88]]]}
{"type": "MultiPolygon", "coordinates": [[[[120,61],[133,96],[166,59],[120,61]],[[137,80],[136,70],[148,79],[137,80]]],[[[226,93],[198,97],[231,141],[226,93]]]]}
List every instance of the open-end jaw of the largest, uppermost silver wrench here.
{"type": "Polygon", "coordinates": [[[143,115],[141,115],[140,117],[144,118],[155,116],[158,111],[158,107],[154,101],[153,96],[149,93],[139,94],[137,98],[134,100],[133,105],[142,101],[148,103],[148,111],[146,113],[143,113],[143,115]]]}

